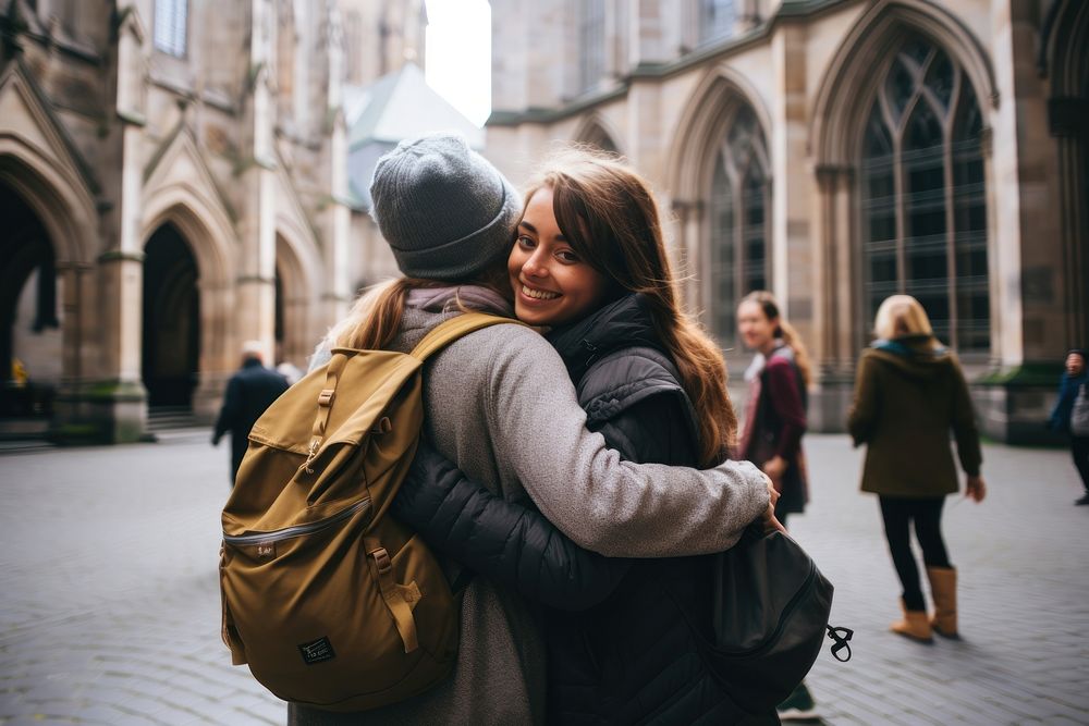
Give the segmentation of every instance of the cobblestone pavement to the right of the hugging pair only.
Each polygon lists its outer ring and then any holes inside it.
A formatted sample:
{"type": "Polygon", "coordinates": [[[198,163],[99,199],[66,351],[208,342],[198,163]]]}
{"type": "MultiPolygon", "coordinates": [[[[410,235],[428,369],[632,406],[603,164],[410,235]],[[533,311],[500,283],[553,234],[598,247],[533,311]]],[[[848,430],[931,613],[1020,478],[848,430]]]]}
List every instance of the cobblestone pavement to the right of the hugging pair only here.
{"type": "Polygon", "coordinates": [[[927,645],[888,632],[900,583],[860,452],[806,440],[812,502],[791,530],[835,585],[832,623],[855,629],[851,662],[825,651],[807,681],[824,722],[1089,724],[1089,507],[1068,453],[983,447],[988,497],[949,497],[943,520],[963,640],[927,645]]]}

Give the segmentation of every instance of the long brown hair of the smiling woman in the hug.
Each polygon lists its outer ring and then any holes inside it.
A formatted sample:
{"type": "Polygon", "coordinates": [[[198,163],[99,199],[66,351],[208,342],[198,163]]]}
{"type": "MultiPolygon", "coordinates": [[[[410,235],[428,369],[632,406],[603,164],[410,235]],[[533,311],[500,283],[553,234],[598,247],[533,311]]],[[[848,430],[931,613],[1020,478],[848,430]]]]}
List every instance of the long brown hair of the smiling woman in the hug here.
{"type": "Polygon", "coordinates": [[[737,432],[726,366],[719,347],[682,308],[649,184],[615,157],[570,147],[553,152],[538,170],[526,204],[546,187],[572,248],[616,292],[641,293],[650,304],[654,331],[696,408],[700,466],[720,463],[737,432]]]}

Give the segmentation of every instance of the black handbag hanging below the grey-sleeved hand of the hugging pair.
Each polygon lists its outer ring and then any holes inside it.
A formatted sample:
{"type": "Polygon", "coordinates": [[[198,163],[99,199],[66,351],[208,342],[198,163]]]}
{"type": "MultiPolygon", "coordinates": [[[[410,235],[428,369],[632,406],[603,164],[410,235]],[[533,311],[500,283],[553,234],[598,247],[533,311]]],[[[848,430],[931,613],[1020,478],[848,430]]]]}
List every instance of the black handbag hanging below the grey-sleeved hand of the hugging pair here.
{"type": "Polygon", "coordinates": [[[809,673],[825,632],[833,656],[851,659],[852,631],[828,625],[832,583],[790,536],[749,527],[712,556],[713,642],[705,657],[739,706],[763,714],[782,703],[809,673]]]}

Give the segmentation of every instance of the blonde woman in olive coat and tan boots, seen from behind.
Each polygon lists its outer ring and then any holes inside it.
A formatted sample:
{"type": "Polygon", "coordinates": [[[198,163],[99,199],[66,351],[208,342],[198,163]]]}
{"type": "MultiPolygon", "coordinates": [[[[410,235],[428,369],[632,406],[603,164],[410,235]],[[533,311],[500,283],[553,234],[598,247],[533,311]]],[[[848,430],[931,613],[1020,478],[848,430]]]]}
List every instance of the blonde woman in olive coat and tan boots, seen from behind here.
{"type": "Polygon", "coordinates": [[[959,484],[950,430],[967,475],[967,496],[982,502],[982,455],[968,384],[960,366],[909,295],[893,295],[878,308],[878,340],[862,352],[847,429],[867,444],[862,491],[878,495],[885,538],[903,586],[904,616],[892,631],[929,642],[931,632],[957,637],[956,570],[942,538],[942,506],[959,484]],[[927,606],[911,554],[910,527],[922,550],[934,616],[927,606]]]}

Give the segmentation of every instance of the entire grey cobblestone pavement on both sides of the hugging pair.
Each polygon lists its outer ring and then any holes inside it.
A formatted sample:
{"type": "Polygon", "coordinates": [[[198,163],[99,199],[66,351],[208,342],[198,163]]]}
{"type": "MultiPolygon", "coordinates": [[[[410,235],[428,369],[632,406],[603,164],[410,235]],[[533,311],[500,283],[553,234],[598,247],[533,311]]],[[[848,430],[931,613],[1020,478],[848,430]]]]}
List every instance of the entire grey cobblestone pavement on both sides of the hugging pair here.
{"type": "MultiPolygon", "coordinates": [[[[281,724],[283,703],[219,639],[228,454],[205,431],[158,444],[0,456],[0,724],[281,724]]],[[[844,436],[807,438],[795,537],[835,583],[808,684],[825,724],[1089,723],[1089,507],[1062,451],[984,447],[982,505],[947,502],[964,640],[889,633],[898,587],[844,436]]]]}

